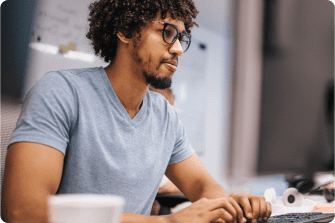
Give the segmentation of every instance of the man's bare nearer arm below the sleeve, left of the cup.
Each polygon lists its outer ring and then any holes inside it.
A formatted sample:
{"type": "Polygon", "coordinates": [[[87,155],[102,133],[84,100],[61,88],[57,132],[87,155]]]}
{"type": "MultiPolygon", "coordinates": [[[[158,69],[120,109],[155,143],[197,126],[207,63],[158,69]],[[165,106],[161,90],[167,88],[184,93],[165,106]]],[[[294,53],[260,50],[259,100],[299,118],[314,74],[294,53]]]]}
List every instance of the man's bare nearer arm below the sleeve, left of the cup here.
{"type": "Polygon", "coordinates": [[[47,199],[58,190],[64,154],[38,143],[8,148],[2,191],[5,222],[47,222],[47,199]]]}

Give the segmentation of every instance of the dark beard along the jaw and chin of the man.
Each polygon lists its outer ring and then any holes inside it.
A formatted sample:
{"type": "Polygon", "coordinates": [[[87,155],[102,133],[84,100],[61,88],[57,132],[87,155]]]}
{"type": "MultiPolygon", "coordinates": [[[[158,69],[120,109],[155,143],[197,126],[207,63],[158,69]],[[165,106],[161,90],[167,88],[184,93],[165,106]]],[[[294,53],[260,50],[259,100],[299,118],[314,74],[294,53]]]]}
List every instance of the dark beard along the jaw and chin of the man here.
{"type": "MultiPolygon", "coordinates": [[[[133,52],[133,57],[136,61],[137,64],[142,65],[142,75],[145,78],[145,82],[148,85],[153,86],[156,89],[168,89],[171,88],[172,80],[168,77],[159,77],[158,72],[148,72],[144,70],[145,64],[143,63],[143,58],[139,56],[139,48],[140,46],[137,45],[137,41],[134,40],[134,52],[133,52]]],[[[149,57],[148,64],[151,62],[151,57],[149,57]]],[[[162,60],[163,61],[163,60],[162,60]]],[[[158,65],[156,71],[159,70],[159,66],[161,63],[158,65]]]]}

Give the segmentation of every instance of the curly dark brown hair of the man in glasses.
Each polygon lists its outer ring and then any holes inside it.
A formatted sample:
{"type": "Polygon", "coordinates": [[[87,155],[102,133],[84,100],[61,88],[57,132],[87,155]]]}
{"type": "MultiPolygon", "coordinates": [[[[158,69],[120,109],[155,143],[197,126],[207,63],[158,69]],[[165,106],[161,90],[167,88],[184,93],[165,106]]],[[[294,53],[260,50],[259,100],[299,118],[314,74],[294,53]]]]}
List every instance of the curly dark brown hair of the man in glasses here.
{"type": "Polygon", "coordinates": [[[182,20],[189,35],[193,25],[198,26],[193,19],[199,12],[192,0],[100,0],[90,4],[89,9],[90,28],[86,37],[91,40],[95,54],[107,63],[116,55],[117,33],[132,38],[158,12],[162,19],[169,12],[172,19],[182,20]]]}

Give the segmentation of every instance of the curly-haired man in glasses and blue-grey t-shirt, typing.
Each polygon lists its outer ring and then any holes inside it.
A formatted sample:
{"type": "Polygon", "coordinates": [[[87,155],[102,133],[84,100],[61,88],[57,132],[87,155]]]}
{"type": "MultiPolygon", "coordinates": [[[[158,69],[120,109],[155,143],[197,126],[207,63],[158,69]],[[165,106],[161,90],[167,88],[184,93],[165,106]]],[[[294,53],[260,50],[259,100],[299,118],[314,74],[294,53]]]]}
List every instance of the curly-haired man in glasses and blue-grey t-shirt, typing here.
{"type": "Polygon", "coordinates": [[[163,96],[190,43],[191,0],[101,0],[90,6],[94,50],[106,68],[50,72],[27,95],[6,160],[6,222],[47,221],[51,194],[118,194],[122,222],[256,222],[263,197],[228,194],[195,155],[163,96]],[[164,175],[194,202],[148,216],[164,175]],[[245,217],[243,217],[243,215],[245,217]]]}

